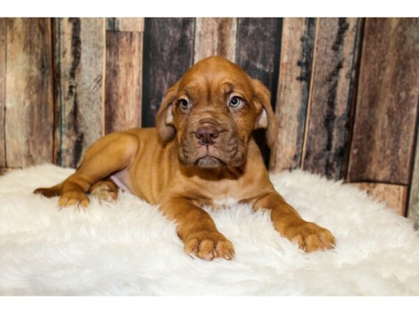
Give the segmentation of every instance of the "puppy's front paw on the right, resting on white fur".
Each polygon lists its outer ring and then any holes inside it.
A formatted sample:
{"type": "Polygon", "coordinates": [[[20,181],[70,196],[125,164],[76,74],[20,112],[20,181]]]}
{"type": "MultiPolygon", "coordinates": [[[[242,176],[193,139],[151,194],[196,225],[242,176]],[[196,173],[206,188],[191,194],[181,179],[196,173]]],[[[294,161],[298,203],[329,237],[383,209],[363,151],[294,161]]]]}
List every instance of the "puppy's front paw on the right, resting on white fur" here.
{"type": "Polygon", "coordinates": [[[306,252],[330,250],[335,247],[335,237],[332,233],[315,223],[303,222],[288,227],[284,235],[300,246],[306,252]]]}

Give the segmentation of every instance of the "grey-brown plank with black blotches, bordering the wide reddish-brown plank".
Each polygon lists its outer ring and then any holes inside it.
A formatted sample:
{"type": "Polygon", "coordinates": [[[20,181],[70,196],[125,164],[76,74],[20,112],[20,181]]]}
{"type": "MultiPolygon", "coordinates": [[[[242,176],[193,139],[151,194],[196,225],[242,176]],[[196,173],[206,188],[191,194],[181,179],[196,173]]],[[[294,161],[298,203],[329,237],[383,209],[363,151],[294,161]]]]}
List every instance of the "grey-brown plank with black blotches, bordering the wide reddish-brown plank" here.
{"type": "Polygon", "coordinates": [[[320,18],[316,29],[302,168],[344,177],[359,50],[359,18],[320,18]]]}

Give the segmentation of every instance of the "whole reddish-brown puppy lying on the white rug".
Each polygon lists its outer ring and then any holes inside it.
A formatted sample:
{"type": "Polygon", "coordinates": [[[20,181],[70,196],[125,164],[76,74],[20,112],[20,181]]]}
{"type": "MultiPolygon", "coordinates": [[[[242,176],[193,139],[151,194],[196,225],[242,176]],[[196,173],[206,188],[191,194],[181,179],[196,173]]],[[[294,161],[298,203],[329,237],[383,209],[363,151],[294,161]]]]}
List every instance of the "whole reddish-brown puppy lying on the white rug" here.
{"type": "Polygon", "coordinates": [[[234,257],[233,244],[201,208],[232,199],[271,209],[275,229],[307,252],[334,246],[328,230],[302,220],[274,190],[251,136],[265,128],[267,144],[275,142],[270,92],[235,63],[210,57],[192,66],[168,90],[156,126],[102,137],[75,174],[35,193],[59,195],[61,207],[86,207],[88,192],[115,199],[117,185],[126,188],[160,204],[176,221],[184,251],[205,260],[234,257]]]}

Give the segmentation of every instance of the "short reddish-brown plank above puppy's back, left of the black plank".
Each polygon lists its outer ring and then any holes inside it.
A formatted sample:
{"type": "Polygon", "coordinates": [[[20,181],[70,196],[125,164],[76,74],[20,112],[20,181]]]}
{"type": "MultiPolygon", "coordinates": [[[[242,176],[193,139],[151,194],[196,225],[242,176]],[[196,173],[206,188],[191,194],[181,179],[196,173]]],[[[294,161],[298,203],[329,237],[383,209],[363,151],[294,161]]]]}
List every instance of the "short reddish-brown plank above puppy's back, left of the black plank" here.
{"type": "Polygon", "coordinates": [[[141,126],[142,33],[106,32],[105,131],[141,126]]]}

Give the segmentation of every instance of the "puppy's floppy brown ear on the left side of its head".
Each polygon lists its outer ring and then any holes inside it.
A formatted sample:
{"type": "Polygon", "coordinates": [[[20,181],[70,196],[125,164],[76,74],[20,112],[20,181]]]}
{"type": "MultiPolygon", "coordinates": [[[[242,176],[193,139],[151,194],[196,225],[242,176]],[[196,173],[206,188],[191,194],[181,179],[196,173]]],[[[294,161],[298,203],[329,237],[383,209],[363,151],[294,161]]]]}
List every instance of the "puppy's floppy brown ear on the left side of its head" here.
{"type": "Polygon", "coordinates": [[[178,85],[176,83],[166,91],[163,102],[156,114],[156,128],[163,142],[169,142],[175,137],[176,129],[175,124],[173,124],[172,107],[173,102],[176,100],[178,85]]]}

